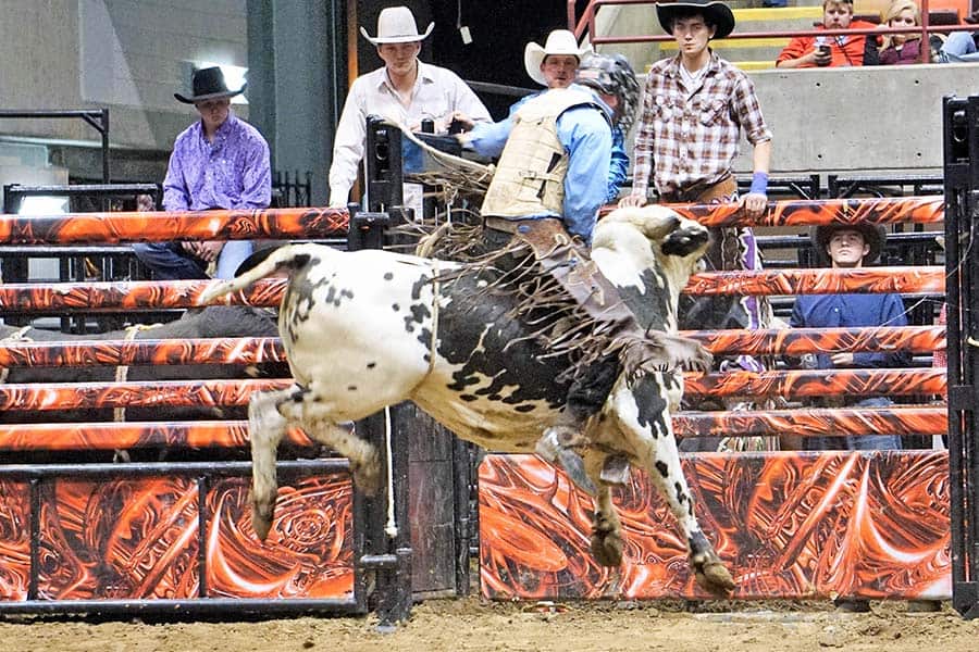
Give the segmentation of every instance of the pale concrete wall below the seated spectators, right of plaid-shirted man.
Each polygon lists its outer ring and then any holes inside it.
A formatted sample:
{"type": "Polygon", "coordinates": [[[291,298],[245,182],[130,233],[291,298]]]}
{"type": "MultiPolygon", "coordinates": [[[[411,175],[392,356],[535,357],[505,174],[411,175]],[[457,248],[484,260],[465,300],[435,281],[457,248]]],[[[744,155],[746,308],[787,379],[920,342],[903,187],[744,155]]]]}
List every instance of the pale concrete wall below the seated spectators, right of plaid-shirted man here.
{"type": "MultiPolygon", "coordinates": [[[[942,98],[979,93],[979,64],[758,71],[779,173],[942,167],[942,98]]],[[[739,170],[749,170],[742,148],[739,170]]]]}

